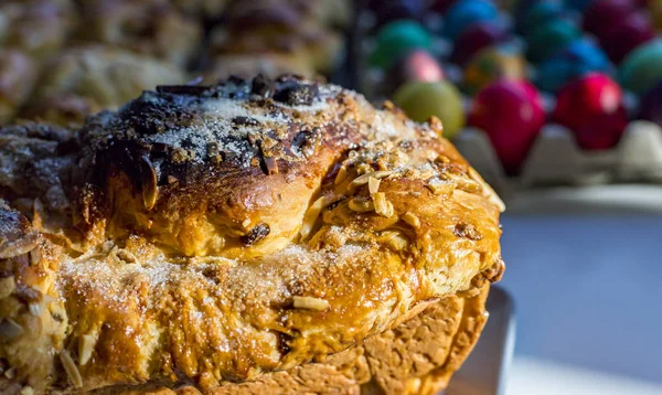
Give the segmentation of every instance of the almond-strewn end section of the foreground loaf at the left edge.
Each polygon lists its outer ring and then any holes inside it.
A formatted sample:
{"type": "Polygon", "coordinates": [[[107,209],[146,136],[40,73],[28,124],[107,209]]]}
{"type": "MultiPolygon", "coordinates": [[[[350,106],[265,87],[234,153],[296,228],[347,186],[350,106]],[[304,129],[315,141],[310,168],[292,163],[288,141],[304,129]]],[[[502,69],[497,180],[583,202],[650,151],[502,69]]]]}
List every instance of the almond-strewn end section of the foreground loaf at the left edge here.
{"type": "Polygon", "coordinates": [[[60,248],[0,200],[0,392],[43,392],[55,375],[53,350],[62,350],[66,312],[55,273],[60,248]],[[8,380],[9,378],[9,380],[8,380]]]}

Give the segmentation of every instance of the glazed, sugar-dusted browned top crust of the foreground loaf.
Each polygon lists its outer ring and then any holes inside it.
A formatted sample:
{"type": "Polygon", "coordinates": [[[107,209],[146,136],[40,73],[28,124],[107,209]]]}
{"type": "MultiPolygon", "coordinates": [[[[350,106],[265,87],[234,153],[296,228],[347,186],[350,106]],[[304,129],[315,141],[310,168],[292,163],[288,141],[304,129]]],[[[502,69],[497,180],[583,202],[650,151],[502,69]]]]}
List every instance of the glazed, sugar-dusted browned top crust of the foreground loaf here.
{"type": "Polygon", "coordinates": [[[28,382],[254,381],[474,296],[501,271],[501,207],[439,131],[295,77],[160,87],[95,116],[70,233],[32,218],[65,247],[44,278],[70,325],[45,351],[55,373],[28,382]]]}

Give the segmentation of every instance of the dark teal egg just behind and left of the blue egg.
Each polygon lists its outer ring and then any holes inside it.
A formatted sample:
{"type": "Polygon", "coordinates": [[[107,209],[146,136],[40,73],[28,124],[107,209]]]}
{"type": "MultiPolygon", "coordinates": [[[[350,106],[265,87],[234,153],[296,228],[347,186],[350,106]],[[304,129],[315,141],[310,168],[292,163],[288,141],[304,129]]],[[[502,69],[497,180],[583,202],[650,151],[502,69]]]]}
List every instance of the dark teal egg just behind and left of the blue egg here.
{"type": "Polygon", "coordinates": [[[553,20],[533,30],[526,38],[526,57],[534,63],[542,62],[580,36],[581,32],[573,22],[566,19],[553,20]]]}

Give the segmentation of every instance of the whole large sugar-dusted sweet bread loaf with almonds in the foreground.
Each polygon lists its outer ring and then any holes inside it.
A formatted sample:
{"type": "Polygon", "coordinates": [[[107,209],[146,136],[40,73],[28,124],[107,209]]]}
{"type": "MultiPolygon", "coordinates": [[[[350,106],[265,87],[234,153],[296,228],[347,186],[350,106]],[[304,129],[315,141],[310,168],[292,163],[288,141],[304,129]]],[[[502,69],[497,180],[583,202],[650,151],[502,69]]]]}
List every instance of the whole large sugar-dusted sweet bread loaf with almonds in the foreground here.
{"type": "Polygon", "coordinates": [[[0,146],[9,393],[434,393],[503,271],[502,203],[440,122],[338,86],[161,86],[22,128],[0,146]]]}

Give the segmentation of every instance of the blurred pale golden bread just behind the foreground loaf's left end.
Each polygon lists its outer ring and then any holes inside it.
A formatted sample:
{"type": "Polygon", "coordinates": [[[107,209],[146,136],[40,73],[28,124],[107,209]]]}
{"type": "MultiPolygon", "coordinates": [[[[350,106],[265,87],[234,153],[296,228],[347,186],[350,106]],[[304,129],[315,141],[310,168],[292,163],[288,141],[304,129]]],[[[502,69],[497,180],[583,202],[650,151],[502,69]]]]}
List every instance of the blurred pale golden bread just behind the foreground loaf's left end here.
{"type": "Polygon", "coordinates": [[[181,67],[107,45],[72,47],[45,62],[19,117],[67,126],[115,109],[159,84],[184,83],[181,67]]]}

